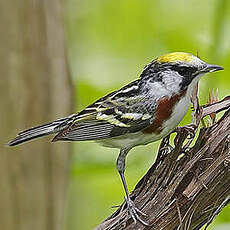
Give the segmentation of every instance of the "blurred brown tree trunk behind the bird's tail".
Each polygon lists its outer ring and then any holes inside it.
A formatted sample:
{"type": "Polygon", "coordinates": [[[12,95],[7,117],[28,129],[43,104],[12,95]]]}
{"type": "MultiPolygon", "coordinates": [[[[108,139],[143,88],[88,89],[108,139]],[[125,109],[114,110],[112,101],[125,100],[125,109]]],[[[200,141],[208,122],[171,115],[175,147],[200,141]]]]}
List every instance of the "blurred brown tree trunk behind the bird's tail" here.
{"type": "Polygon", "coordinates": [[[18,131],[69,115],[61,0],[0,0],[0,226],[61,230],[70,145],[9,148],[18,131]]]}

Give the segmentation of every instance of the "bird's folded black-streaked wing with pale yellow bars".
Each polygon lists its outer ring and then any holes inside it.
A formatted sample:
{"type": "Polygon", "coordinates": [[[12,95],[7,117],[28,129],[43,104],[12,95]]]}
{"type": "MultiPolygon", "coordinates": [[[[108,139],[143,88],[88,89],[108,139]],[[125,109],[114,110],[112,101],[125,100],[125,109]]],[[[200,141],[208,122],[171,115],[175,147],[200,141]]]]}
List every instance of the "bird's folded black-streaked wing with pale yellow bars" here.
{"type": "Polygon", "coordinates": [[[149,127],[156,103],[140,92],[138,81],[100,98],[56,135],[57,140],[97,140],[133,133],[149,127]]]}

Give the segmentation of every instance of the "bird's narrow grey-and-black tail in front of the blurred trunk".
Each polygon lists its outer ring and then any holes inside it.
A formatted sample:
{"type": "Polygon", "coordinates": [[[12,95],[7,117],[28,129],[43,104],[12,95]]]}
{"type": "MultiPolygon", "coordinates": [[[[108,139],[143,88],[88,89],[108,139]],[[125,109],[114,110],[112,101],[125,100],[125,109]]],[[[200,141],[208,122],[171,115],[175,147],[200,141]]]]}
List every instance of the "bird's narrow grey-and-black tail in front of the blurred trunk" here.
{"type": "Polygon", "coordinates": [[[8,143],[9,146],[14,146],[21,144],[23,142],[29,141],[31,139],[46,136],[52,133],[58,133],[69,126],[73,121],[73,115],[65,118],[58,119],[56,121],[50,122],[48,124],[33,127],[18,133],[18,135],[8,143]]]}

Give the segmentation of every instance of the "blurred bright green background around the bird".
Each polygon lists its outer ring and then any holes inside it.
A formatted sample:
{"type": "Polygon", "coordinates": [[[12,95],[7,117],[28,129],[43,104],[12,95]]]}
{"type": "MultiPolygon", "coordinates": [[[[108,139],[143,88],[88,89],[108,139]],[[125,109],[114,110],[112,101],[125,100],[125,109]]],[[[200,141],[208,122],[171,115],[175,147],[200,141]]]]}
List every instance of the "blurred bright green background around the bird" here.
{"type": "MultiPolygon", "coordinates": [[[[230,1],[227,0],[67,0],[68,58],[76,89],[76,111],[138,78],[145,64],[173,51],[199,53],[225,70],[200,83],[205,103],[211,89],[229,94],[230,1]]],[[[182,124],[191,121],[190,112],[182,124]]],[[[128,156],[130,191],[153,164],[159,142],[136,147],[128,156]]],[[[115,169],[116,149],[73,144],[67,230],[92,229],[110,215],[124,193],[115,169]]],[[[210,229],[230,229],[230,207],[210,229]]]]}

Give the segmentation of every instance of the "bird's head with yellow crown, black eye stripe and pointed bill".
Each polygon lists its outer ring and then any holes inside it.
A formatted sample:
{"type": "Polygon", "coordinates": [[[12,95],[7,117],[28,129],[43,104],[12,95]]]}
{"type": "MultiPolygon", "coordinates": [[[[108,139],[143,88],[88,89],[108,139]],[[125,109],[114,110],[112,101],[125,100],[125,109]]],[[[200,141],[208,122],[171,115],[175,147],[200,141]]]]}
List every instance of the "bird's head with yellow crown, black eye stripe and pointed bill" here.
{"type": "Polygon", "coordinates": [[[184,52],[174,52],[162,55],[149,65],[141,74],[141,78],[150,77],[152,81],[168,81],[170,85],[178,83],[186,88],[194,79],[197,81],[202,75],[224,69],[218,65],[208,64],[200,58],[184,52]],[[175,83],[174,83],[175,82],[175,83]]]}

